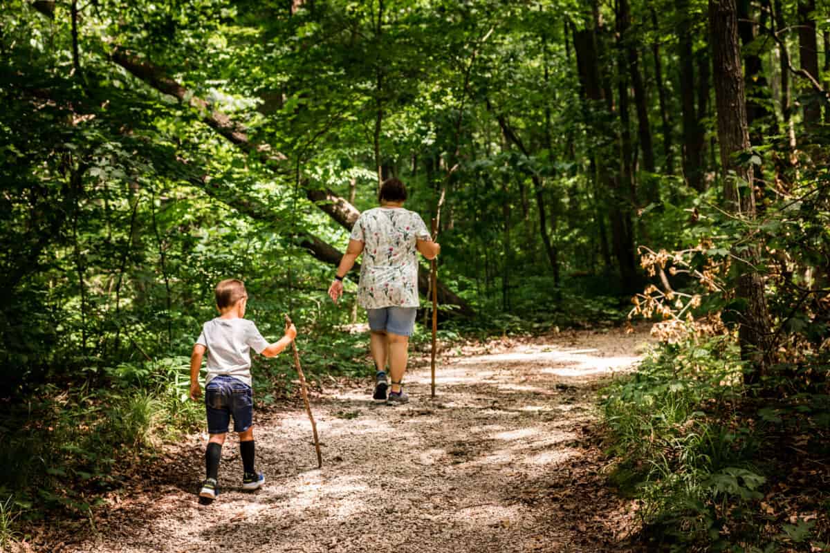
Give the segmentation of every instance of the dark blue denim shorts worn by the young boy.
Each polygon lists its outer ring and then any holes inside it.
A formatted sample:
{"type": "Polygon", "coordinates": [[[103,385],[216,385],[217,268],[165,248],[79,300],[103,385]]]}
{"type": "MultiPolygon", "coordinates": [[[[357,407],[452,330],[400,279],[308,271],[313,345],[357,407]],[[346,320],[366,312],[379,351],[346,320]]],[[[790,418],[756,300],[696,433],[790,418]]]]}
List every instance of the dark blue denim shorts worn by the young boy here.
{"type": "Polygon", "coordinates": [[[214,376],[205,386],[207,434],[224,434],[231,423],[233,431],[245,432],[253,426],[254,402],[251,386],[233,376],[214,376]]]}

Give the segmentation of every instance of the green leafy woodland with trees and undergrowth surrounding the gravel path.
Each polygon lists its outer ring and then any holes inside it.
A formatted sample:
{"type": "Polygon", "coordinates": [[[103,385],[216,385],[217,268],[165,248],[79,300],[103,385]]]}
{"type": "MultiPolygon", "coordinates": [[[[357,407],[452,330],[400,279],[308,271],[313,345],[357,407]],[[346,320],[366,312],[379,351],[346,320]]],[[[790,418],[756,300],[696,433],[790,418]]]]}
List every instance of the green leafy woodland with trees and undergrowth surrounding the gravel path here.
{"type": "Polygon", "coordinates": [[[657,322],[600,399],[644,540],[830,541],[825,0],[2,6],[2,545],[199,428],[220,279],[314,378],[365,376],[325,289],[389,176],[442,205],[445,344],[657,322]]]}

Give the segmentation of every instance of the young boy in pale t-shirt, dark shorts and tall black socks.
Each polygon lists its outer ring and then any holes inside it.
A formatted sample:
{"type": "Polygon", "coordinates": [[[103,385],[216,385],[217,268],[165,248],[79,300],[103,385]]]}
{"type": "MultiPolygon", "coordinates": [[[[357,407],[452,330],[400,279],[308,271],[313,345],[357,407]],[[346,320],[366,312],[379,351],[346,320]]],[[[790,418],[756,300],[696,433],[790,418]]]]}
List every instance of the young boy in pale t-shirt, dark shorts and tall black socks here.
{"type": "Polygon", "coordinates": [[[233,430],[239,434],[242,453],[242,488],[256,490],[265,483],[265,475],[254,471],[253,402],[251,399],[250,350],[266,357],[275,357],[297,336],[292,324],[279,342],[269,344],[252,321],[245,319],[248,294],[241,280],[222,280],[216,287],[216,307],[219,317],[202,327],[193,354],[190,357],[190,397],[198,400],[199,370],[207,351],[205,378],[205,406],[207,407],[207,442],[205,479],[199,497],[212,500],[217,496],[219,459],[225,443],[228,424],[233,416],[233,430]]]}

